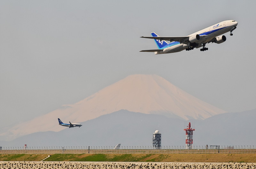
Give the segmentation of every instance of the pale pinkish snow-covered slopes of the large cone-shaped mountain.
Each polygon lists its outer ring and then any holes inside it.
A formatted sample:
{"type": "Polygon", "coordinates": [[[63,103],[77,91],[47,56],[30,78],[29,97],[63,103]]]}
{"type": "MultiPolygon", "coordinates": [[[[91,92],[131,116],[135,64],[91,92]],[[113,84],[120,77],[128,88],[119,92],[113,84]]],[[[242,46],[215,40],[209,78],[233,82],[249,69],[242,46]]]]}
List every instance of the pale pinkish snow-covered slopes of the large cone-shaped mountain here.
{"type": "Polygon", "coordinates": [[[121,109],[168,117],[205,119],[225,113],[189,95],[157,75],[135,74],[118,81],[72,105],[63,105],[43,116],[17,124],[0,136],[5,140],[39,131],[60,131],[64,123],[80,123],[121,109]]]}

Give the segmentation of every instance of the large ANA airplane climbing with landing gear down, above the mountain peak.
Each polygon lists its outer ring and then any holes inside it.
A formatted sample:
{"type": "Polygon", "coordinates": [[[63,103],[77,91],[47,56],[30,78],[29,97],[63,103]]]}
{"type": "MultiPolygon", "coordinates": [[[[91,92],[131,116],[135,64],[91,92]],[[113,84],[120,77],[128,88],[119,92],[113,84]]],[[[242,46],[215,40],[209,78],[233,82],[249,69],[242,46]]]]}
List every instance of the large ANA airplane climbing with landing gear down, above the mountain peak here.
{"type": "Polygon", "coordinates": [[[207,43],[220,44],[226,41],[224,33],[230,32],[230,36],[233,35],[232,31],[236,29],[237,22],[235,20],[225,20],[220,23],[209,26],[198,32],[192,33],[188,36],[180,37],[160,37],[155,32],[152,32],[152,37],[140,37],[154,39],[158,49],[156,50],[142,50],[140,52],[155,52],[155,54],[175,53],[182,50],[190,51],[194,48],[200,48],[200,51],[206,51],[205,47],[207,43]],[[170,43],[166,42],[170,41],[170,43]]]}

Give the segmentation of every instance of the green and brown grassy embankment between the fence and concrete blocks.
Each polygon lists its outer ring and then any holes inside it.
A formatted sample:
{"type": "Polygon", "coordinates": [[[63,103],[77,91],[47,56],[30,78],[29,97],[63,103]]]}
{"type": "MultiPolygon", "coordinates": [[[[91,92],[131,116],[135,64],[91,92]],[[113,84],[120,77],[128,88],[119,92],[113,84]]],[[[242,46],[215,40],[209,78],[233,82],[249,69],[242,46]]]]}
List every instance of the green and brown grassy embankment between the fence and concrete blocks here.
{"type": "MultiPolygon", "coordinates": [[[[48,154],[0,154],[0,161],[41,161],[48,154]]],[[[256,154],[53,154],[45,161],[250,162],[256,154]]]]}

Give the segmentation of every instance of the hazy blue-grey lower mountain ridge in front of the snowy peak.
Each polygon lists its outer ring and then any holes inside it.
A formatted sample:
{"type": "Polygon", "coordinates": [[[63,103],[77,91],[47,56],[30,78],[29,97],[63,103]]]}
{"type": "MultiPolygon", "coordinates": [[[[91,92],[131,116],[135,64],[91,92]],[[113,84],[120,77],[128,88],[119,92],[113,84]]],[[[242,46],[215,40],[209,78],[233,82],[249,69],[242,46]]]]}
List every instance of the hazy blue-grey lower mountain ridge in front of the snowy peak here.
{"type": "MultiPolygon", "coordinates": [[[[193,145],[253,145],[256,136],[254,119],[256,109],[236,113],[223,113],[205,120],[168,118],[163,115],[119,110],[83,122],[80,128],[64,128],[59,132],[32,133],[13,141],[0,141],[6,146],[152,146],[155,130],[162,134],[162,145],[185,146],[188,122],[195,127],[193,145]],[[65,139],[63,139],[65,138],[65,139]],[[74,139],[79,138],[79,139],[74,139]]],[[[55,124],[58,126],[58,124],[55,124]]]]}

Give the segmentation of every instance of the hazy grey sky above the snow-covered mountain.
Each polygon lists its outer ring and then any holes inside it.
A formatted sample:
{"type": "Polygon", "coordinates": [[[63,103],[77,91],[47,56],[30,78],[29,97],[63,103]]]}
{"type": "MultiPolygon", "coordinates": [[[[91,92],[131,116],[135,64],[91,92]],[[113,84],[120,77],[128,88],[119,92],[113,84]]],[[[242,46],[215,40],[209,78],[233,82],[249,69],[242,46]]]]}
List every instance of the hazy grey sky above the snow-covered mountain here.
{"type": "MultiPolygon", "coordinates": [[[[256,108],[256,1],[0,1],[0,127],[76,103],[131,74],[157,74],[229,112],[256,108]],[[154,55],[152,39],[223,20],[208,51],[154,55]]],[[[57,123],[57,121],[56,121],[57,123]]]]}

